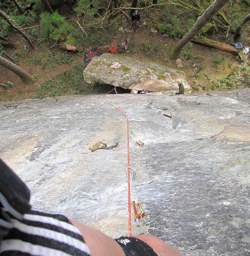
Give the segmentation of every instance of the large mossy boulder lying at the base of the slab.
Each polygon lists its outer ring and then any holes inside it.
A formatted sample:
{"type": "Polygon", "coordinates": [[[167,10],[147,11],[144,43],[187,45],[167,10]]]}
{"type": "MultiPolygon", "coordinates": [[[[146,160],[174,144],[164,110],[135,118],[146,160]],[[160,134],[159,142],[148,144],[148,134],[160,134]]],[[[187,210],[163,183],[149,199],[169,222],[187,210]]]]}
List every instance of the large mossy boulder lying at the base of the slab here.
{"type": "Polygon", "coordinates": [[[187,84],[185,73],[180,70],[131,57],[123,58],[123,55],[110,53],[93,58],[83,72],[85,81],[90,84],[99,81],[130,90],[169,93],[179,93],[179,84],[187,84]]]}

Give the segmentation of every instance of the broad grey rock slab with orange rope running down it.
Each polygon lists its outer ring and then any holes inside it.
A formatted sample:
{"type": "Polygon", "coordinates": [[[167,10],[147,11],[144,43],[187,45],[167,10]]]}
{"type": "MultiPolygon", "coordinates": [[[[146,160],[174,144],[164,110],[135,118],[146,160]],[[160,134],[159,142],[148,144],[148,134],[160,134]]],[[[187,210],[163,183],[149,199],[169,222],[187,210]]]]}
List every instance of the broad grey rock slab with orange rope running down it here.
{"type": "Polygon", "coordinates": [[[129,115],[129,165],[146,213],[141,223],[132,221],[132,235],[157,236],[190,256],[247,256],[249,95],[244,89],[0,103],[0,157],[29,186],[34,208],[62,212],[113,238],[127,235],[129,115]]]}

